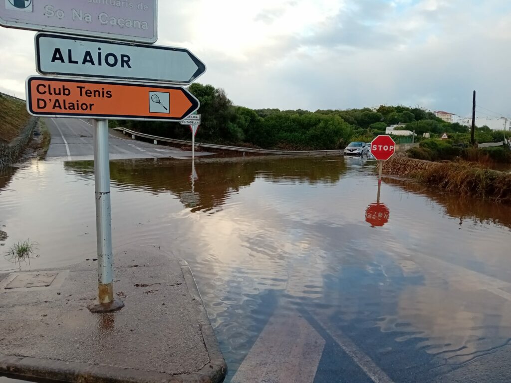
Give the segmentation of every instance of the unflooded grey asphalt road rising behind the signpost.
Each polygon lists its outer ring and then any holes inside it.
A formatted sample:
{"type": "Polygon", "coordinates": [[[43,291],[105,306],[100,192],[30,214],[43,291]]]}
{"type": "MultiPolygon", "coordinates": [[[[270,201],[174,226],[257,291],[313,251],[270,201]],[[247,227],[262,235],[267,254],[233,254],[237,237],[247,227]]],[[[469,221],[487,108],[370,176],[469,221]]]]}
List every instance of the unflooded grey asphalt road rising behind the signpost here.
{"type": "MultiPolygon", "coordinates": [[[[93,128],[89,121],[80,118],[45,118],[44,122],[52,135],[47,158],[63,157],[68,161],[93,158],[93,128]]],[[[191,151],[132,140],[117,132],[110,132],[109,136],[110,159],[182,158],[192,155],[191,151]]],[[[205,154],[209,153],[196,153],[205,154]]]]}

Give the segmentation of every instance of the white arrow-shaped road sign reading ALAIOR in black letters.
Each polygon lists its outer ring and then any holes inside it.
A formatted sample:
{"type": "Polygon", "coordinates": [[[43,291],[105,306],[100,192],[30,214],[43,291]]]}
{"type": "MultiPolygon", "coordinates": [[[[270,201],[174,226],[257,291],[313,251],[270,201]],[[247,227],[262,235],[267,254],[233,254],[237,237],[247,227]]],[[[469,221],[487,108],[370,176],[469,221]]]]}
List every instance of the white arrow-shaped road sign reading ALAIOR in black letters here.
{"type": "Polygon", "coordinates": [[[41,75],[188,85],[206,71],[204,63],[190,51],[167,46],[38,33],[35,49],[41,75]]]}

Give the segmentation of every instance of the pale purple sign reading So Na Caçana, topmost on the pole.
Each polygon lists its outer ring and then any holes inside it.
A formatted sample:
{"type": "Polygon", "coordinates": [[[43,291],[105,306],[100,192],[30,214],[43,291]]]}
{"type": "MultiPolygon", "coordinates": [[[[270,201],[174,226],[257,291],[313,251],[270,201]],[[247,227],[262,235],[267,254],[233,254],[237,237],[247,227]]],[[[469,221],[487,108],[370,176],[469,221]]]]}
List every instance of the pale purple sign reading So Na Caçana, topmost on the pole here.
{"type": "Polygon", "coordinates": [[[0,0],[0,25],[153,43],[157,11],[157,0],[0,0]]]}

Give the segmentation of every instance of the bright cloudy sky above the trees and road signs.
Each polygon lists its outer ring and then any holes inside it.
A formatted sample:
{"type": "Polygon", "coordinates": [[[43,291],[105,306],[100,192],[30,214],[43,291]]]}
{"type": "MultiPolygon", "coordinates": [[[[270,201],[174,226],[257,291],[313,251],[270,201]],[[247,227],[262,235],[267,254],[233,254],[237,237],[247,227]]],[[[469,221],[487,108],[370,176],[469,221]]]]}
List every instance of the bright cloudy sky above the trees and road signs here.
{"type": "MultiPolygon", "coordinates": [[[[159,0],[158,17],[156,44],[190,49],[235,105],[468,116],[476,90],[478,113],[511,116],[509,0],[159,0]]],[[[33,38],[0,28],[0,91],[25,97],[33,38]]]]}

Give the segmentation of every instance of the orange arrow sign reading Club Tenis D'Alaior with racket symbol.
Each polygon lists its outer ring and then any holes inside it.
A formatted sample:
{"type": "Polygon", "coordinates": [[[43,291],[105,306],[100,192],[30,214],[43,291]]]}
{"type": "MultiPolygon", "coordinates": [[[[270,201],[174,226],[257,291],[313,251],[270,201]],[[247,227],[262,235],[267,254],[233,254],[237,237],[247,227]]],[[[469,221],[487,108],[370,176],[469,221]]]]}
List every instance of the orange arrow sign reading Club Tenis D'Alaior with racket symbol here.
{"type": "Polygon", "coordinates": [[[34,116],[180,121],[199,101],[180,86],[31,76],[27,109],[34,116]]]}

